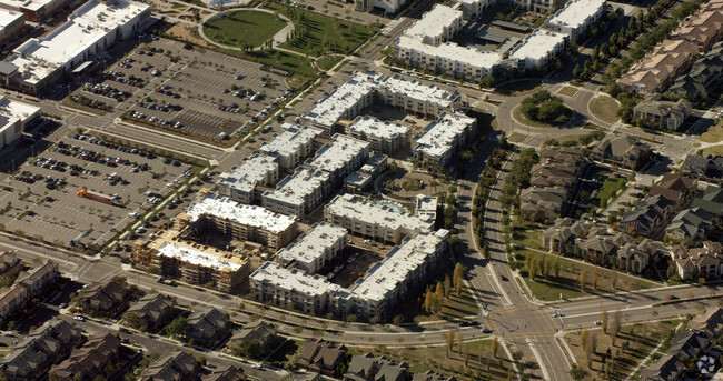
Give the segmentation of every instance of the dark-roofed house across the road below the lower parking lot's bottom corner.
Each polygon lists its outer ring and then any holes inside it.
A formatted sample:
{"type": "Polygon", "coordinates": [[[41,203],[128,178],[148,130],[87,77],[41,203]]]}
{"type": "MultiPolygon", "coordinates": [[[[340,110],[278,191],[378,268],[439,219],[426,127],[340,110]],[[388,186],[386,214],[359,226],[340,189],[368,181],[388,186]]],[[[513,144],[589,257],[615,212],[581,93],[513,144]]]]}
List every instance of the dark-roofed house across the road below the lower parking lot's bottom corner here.
{"type": "Polygon", "coordinates": [[[90,314],[115,317],[128,307],[128,292],[117,282],[95,283],[78,292],[80,309],[90,314]]]}

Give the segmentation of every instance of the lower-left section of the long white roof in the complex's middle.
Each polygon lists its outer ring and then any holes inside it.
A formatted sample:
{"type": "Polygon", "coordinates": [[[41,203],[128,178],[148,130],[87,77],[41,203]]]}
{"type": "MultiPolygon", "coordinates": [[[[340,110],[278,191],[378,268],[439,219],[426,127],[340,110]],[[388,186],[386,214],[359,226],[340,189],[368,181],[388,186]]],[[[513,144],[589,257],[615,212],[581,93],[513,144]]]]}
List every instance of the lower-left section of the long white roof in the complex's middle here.
{"type": "Polygon", "coordinates": [[[264,192],[264,198],[303,205],[307,195],[328,183],[329,177],[328,172],[299,167],[279,181],[275,190],[264,192]]]}

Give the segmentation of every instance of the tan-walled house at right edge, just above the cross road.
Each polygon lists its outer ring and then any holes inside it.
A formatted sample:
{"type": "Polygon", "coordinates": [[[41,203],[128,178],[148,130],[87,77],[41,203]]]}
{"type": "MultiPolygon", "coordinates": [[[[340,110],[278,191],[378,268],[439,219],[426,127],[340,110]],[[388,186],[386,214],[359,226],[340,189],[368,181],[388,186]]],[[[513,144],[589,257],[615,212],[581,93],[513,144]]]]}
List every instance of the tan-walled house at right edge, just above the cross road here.
{"type": "Polygon", "coordinates": [[[723,278],[723,250],[720,242],[705,241],[702,248],[686,249],[673,245],[671,259],[682,280],[716,280],[723,278]]]}

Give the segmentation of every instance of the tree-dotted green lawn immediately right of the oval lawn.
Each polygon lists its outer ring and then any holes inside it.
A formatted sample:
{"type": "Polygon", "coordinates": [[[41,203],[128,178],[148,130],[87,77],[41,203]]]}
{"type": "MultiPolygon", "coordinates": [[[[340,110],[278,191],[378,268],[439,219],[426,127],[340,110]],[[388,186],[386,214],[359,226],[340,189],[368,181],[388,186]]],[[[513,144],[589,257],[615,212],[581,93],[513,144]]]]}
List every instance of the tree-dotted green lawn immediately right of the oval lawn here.
{"type": "Polygon", "coordinates": [[[343,21],[276,2],[269,3],[268,8],[294,20],[296,26],[295,33],[297,36],[283,43],[281,48],[304,54],[318,57],[334,51],[349,53],[369,40],[375,32],[359,23],[343,21]]]}

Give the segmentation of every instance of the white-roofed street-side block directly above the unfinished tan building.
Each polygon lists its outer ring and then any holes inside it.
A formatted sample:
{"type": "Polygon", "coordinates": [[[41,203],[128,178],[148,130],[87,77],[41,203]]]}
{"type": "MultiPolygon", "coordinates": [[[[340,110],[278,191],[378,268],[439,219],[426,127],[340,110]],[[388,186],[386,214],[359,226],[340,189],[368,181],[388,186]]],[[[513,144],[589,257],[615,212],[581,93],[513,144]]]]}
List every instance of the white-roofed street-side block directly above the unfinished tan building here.
{"type": "Polygon", "coordinates": [[[255,154],[245,158],[239,167],[221,173],[218,193],[234,201],[251,203],[258,197],[259,186],[269,187],[279,179],[279,164],[276,158],[255,154]]]}

